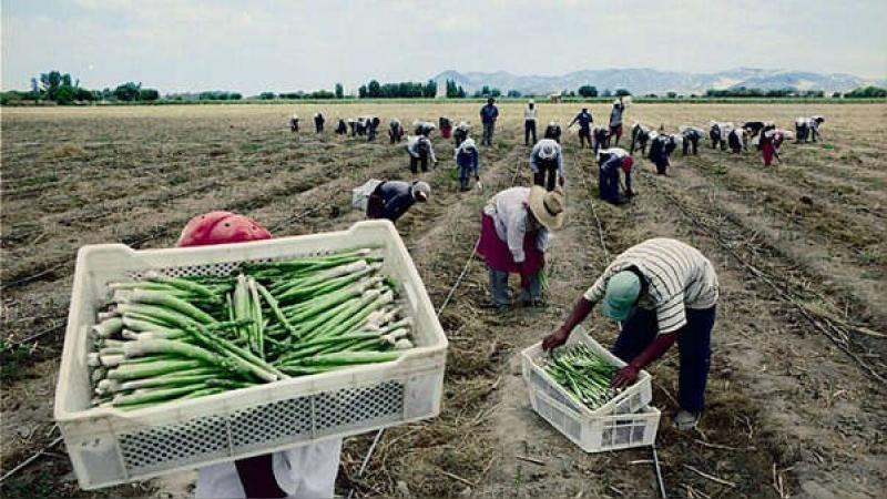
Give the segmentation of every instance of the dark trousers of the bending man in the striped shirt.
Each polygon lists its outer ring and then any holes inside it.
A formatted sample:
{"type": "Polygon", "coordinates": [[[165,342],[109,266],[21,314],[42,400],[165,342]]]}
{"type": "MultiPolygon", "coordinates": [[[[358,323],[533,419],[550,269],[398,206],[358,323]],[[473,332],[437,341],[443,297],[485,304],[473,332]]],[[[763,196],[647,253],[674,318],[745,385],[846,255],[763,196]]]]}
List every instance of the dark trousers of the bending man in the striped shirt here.
{"type": "MultiPolygon", "coordinates": [[[[686,308],[686,325],[674,333],[677,335],[681,358],[677,403],[682,409],[693,414],[700,414],[705,408],[715,308],[686,308]]],[[[613,345],[613,355],[626,363],[632,361],[653,343],[657,330],[655,312],[635,308],[634,314],[622,323],[622,333],[613,345]]]]}

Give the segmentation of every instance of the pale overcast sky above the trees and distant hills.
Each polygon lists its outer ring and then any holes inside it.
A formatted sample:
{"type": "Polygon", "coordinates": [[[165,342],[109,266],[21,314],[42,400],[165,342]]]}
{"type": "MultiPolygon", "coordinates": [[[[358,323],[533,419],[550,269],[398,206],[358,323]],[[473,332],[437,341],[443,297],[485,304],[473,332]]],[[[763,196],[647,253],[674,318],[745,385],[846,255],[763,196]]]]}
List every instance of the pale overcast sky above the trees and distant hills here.
{"type": "Polygon", "coordinates": [[[440,71],[887,74],[885,0],[2,0],[2,88],[58,69],[162,93],[353,89],[440,71]]]}

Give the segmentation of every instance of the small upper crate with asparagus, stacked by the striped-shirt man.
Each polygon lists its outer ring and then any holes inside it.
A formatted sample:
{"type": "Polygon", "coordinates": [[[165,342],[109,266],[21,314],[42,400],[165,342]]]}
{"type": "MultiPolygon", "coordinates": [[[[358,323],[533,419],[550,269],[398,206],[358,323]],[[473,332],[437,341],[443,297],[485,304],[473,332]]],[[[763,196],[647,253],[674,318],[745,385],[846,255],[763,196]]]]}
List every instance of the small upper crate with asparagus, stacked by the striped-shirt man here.
{"type": "Polygon", "coordinates": [[[524,349],[523,380],[532,396],[541,391],[558,404],[584,416],[636,413],[653,399],[652,377],[646,370],[628,388],[609,387],[625,363],[578,326],[567,344],[548,354],[541,342],[524,349]]]}

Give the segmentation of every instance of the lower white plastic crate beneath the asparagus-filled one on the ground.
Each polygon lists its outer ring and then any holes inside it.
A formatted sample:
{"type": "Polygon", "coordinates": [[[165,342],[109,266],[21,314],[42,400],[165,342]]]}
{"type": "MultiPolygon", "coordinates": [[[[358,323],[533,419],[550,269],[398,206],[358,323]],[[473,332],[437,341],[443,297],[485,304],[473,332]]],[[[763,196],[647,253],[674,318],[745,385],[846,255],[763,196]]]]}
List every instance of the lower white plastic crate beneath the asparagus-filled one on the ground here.
{"type": "Polygon", "coordinates": [[[533,410],[585,452],[651,446],[661,413],[644,406],[634,414],[587,416],[558,404],[542,391],[530,396],[533,410]]]}

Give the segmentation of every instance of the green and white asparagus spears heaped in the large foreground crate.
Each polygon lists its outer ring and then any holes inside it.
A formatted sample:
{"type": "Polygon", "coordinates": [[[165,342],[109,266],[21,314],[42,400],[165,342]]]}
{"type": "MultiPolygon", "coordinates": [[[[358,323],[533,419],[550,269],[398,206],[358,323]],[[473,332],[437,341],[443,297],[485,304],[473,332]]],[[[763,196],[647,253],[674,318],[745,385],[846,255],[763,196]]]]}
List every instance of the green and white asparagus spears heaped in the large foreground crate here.
{"type": "Polygon", "coordinates": [[[356,249],[113,283],[92,328],[93,405],[135,409],[395,360],[412,347],[412,324],[380,268],[380,256],[356,249]]]}

